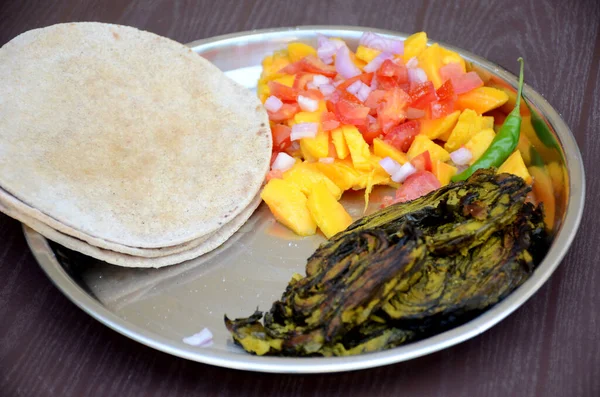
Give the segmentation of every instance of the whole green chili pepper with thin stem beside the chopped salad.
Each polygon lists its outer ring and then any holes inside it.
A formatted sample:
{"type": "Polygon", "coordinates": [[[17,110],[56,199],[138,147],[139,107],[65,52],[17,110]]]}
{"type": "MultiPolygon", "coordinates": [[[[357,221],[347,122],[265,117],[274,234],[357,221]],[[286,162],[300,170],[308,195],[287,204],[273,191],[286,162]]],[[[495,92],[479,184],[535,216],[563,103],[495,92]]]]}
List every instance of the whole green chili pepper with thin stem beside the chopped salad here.
{"type": "Polygon", "coordinates": [[[517,103],[515,108],[506,116],[504,124],[500,127],[498,134],[481,155],[469,168],[458,175],[452,177],[452,181],[464,181],[473,173],[482,168],[500,167],[504,161],[514,152],[519,143],[521,135],[521,92],[523,91],[523,58],[519,58],[521,63],[519,71],[519,91],[517,92],[517,103]]]}

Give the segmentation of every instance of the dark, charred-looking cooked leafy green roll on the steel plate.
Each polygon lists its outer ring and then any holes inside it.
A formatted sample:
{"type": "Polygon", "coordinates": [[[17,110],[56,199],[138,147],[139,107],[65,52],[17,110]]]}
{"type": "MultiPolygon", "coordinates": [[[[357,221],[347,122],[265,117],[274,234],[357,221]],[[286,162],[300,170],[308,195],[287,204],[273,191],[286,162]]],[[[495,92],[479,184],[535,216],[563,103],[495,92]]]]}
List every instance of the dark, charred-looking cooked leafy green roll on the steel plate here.
{"type": "Polygon", "coordinates": [[[460,324],[507,296],[548,247],[516,176],[469,179],[364,217],[322,244],[268,313],[230,320],[258,355],[378,351],[460,324]],[[263,322],[261,323],[261,319],[263,322]]]}

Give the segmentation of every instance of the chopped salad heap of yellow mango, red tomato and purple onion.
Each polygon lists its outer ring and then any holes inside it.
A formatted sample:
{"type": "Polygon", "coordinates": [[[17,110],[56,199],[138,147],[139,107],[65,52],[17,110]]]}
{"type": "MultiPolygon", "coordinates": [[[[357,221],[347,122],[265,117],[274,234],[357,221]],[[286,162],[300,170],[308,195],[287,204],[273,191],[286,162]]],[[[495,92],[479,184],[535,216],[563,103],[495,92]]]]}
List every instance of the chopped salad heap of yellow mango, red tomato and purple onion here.
{"type": "MultiPolygon", "coordinates": [[[[387,206],[450,183],[484,155],[517,103],[514,89],[428,46],[425,32],[406,40],[366,32],[355,51],[319,35],[316,48],[289,43],[262,66],[273,155],[261,196],[301,236],[348,227],[339,202],[347,190],[364,189],[366,208],[376,185],[396,189],[387,206]]],[[[510,150],[498,172],[531,183],[522,151],[510,150]]]]}

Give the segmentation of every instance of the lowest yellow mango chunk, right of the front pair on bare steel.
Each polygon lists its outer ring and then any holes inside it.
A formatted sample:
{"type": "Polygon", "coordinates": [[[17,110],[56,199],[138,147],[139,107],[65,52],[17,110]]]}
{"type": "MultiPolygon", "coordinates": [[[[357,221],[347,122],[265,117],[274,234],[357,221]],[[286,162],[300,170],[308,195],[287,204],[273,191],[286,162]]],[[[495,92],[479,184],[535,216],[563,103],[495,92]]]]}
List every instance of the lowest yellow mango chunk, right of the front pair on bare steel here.
{"type": "Polygon", "coordinates": [[[323,182],[313,186],[306,203],[312,218],[325,237],[346,229],[352,223],[352,218],[323,182]]]}

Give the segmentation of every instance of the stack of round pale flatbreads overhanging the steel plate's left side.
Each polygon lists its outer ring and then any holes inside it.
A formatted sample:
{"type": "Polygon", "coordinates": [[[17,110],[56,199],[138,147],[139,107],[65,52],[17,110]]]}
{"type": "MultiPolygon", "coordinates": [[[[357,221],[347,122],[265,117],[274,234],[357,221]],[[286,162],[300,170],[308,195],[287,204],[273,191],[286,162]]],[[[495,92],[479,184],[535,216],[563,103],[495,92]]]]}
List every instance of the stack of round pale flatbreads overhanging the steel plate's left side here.
{"type": "Polygon", "coordinates": [[[186,46],[70,23],[0,49],[0,210],[67,248],[161,267],[221,245],[260,203],[255,93],[186,46]]]}

